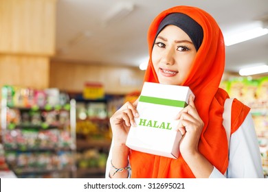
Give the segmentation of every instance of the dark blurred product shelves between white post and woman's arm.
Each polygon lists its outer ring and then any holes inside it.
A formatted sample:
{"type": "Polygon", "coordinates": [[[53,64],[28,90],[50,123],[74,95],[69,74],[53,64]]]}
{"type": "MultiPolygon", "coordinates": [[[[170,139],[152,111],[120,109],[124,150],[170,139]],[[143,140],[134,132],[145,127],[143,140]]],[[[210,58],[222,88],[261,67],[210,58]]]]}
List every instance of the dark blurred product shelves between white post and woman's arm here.
{"type": "Polygon", "coordinates": [[[104,178],[111,145],[109,117],[114,110],[122,106],[124,97],[104,95],[88,99],[82,93],[73,93],[69,96],[76,99],[77,177],[104,178]]]}

